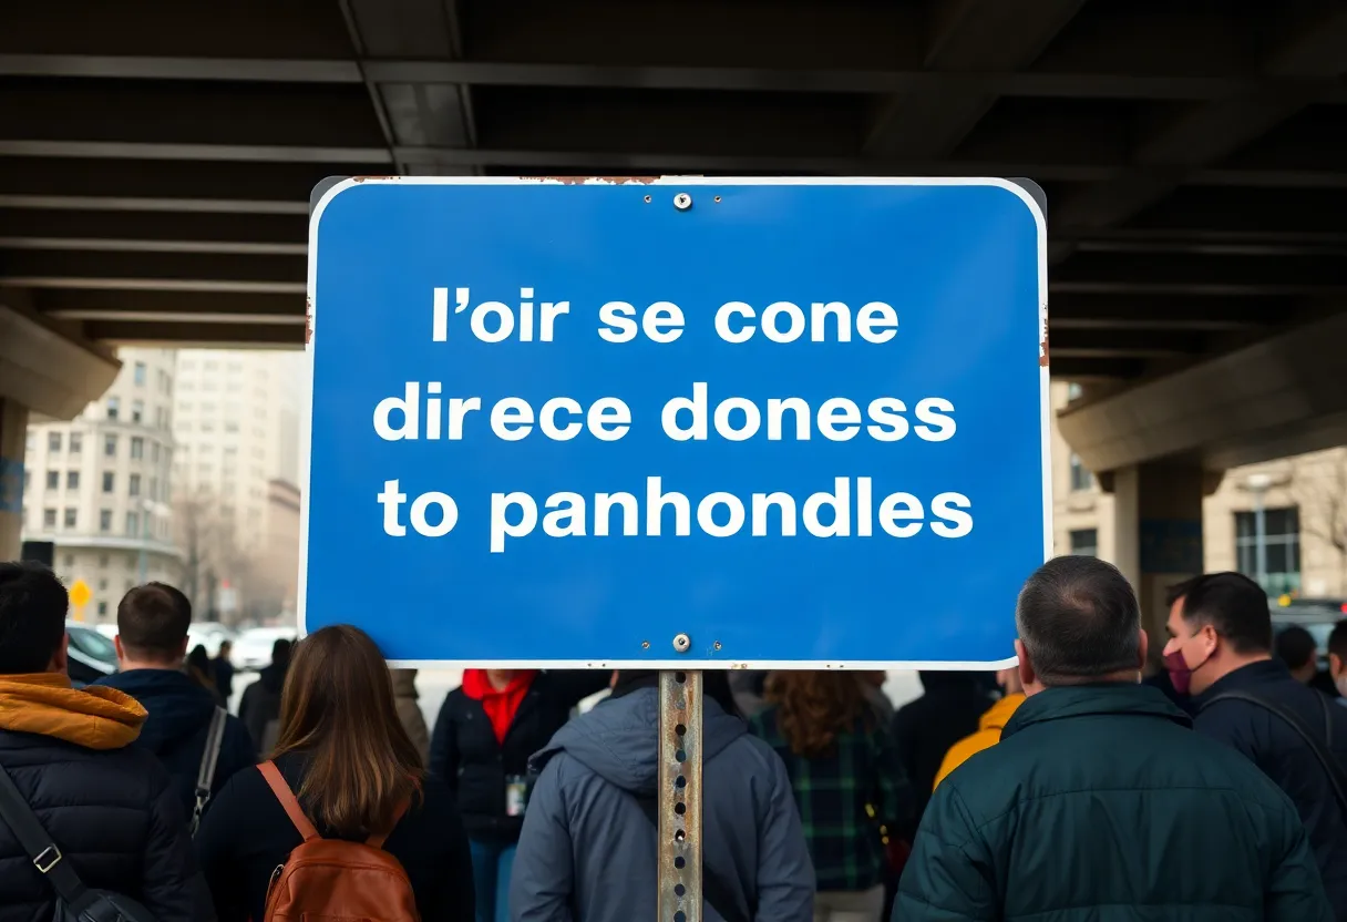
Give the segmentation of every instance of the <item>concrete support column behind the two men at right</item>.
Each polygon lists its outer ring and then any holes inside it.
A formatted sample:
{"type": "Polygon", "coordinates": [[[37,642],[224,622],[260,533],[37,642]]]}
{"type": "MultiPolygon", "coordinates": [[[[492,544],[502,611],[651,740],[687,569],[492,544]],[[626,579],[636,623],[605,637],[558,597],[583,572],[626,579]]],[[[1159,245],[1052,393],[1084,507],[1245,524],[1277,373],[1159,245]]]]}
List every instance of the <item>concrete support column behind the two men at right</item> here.
{"type": "Polygon", "coordinates": [[[1220,473],[1200,466],[1148,462],[1114,470],[1114,559],[1137,590],[1141,623],[1158,662],[1165,644],[1165,592],[1203,569],[1202,500],[1220,473]]]}

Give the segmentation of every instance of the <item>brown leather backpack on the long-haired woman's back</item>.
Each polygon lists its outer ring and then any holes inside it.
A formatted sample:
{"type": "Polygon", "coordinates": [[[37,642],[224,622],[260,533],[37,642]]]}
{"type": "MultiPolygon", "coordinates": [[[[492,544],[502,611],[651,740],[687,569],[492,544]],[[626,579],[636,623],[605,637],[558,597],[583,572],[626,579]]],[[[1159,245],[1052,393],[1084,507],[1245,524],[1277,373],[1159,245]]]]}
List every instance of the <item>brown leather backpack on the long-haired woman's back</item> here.
{"type": "MultiPolygon", "coordinates": [[[[388,833],[370,836],[364,842],[323,838],[304,816],[276,763],[267,762],[259,768],[304,837],[272,872],[264,922],[420,922],[407,871],[383,849],[388,833]]],[[[404,802],[393,816],[393,826],[405,811],[404,802]]]]}

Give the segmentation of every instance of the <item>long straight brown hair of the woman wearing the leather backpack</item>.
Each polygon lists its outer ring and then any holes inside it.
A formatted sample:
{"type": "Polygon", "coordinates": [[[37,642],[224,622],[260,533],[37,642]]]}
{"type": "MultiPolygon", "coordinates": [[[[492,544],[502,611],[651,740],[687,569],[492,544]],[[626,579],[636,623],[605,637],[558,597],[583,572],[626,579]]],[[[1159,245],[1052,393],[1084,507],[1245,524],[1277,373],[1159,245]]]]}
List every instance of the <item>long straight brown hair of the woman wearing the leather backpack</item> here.
{"type": "Polygon", "coordinates": [[[335,624],[295,644],[275,755],[286,752],[307,760],[296,794],[310,818],[341,836],[387,832],[420,790],[420,755],[397,718],[388,665],[360,628],[335,624]]]}

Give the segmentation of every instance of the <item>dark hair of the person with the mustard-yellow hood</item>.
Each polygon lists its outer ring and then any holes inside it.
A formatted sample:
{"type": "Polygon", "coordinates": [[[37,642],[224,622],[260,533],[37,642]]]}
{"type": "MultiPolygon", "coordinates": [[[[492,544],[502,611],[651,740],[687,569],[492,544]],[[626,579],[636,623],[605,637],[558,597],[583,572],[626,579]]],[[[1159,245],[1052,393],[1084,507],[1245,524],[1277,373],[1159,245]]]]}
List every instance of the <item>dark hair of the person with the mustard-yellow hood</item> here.
{"type": "Polygon", "coordinates": [[[0,563],[0,674],[46,671],[66,636],[70,597],[40,563],[0,563]]]}

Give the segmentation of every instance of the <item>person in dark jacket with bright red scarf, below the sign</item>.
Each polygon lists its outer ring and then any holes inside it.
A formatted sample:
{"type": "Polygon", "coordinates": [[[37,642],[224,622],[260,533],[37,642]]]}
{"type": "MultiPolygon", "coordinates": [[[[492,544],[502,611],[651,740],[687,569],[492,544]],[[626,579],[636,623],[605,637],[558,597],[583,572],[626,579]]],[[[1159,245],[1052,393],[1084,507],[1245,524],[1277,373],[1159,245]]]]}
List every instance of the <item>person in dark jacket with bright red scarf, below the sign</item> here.
{"type": "Polygon", "coordinates": [[[430,770],[458,795],[473,848],[478,922],[509,918],[511,867],[524,825],[528,759],[582,700],[607,687],[605,670],[536,673],[469,669],[445,698],[430,770]]]}

